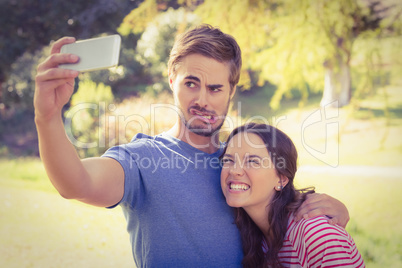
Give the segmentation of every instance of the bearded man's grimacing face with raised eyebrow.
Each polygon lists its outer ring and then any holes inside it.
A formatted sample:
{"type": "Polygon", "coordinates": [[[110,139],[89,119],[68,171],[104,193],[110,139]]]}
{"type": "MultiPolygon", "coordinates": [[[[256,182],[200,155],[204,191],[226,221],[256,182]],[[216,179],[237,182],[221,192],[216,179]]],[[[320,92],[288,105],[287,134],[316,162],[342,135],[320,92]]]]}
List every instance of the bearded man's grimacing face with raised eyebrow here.
{"type": "Polygon", "coordinates": [[[209,137],[221,128],[235,93],[230,89],[229,73],[228,64],[191,54],[170,75],[175,104],[187,129],[209,137]]]}

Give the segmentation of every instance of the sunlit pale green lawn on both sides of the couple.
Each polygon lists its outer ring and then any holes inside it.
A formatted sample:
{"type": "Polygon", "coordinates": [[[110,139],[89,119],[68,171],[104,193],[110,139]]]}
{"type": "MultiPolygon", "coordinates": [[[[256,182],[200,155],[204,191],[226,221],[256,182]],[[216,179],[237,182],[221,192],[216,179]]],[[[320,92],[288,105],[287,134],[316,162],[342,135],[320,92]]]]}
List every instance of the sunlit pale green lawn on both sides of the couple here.
{"type": "MultiPolygon", "coordinates": [[[[61,198],[38,159],[2,160],[0,170],[0,267],[133,266],[119,208],[61,198]]],[[[368,267],[402,267],[402,180],[391,168],[378,177],[386,170],[310,166],[296,177],[299,187],[316,186],[346,204],[347,230],[368,267]]]]}

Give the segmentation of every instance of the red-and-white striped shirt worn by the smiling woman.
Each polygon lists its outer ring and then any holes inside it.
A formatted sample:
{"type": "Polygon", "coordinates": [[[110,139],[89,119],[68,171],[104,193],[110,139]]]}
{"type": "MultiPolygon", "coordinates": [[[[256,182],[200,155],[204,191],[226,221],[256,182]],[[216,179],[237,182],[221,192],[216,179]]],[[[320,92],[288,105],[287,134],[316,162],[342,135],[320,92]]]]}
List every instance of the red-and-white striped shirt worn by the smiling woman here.
{"type": "Polygon", "coordinates": [[[365,267],[352,237],[323,216],[296,222],[291,215],[278,256],[284,267],[365,267]]]}

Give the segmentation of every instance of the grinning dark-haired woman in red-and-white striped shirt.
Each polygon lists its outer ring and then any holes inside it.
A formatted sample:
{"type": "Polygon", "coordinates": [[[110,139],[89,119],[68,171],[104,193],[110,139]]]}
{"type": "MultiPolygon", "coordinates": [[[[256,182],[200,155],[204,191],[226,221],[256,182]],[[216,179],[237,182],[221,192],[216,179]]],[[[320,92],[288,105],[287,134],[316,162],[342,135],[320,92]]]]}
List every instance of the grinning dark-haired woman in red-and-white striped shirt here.
{"type": "Polygon", "coordinates": [[[364,267],[352,237],[328,218],[294,220],[313,188],[296,190],[297,151],[265,124],[236,128],[222,155],[221,186],[235,207],[244,267],[364,267]]]}

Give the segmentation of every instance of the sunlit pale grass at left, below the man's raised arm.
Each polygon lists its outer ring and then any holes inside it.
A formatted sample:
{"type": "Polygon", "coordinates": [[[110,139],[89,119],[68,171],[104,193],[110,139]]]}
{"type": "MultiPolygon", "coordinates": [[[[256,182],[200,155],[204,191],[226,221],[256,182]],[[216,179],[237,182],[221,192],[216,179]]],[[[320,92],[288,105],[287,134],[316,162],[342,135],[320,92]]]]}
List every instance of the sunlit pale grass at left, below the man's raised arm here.
{"type": "Polygon", "coordinates": [[[134,266],[119,208],[63,199],[36,158],[0,170],[0,267],[134,266]]]}

